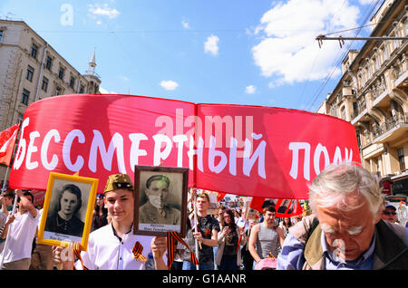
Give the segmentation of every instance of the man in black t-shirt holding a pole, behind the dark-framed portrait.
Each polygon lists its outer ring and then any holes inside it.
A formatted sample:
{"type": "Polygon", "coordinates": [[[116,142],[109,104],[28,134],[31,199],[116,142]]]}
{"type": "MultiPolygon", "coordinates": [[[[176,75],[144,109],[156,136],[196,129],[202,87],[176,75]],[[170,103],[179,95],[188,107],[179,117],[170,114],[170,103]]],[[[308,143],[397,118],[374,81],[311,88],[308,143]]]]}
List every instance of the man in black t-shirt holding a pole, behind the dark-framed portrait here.
{"type": "MultiPolygon", "coordinates": [[[[191,193],[195,193],[193,189],[191,193]]],[[[193,197],[193,196],[192,196],[193,197]]],[[[219,221],[207,214],[209,210],[209,195],[201,193],[196,200],[196,209],[198,217],[198,229],[195,233],[194,219],[188,221],[187,245],[196,253],[195,240],[199,241],[199,270],[214,270],[213,247],[217,245],[219,234],[219,221]]],[[[195,264],[190,262],[191,254],[188,250],[184,253],[183,270],[196,270],[195,264]]]]}

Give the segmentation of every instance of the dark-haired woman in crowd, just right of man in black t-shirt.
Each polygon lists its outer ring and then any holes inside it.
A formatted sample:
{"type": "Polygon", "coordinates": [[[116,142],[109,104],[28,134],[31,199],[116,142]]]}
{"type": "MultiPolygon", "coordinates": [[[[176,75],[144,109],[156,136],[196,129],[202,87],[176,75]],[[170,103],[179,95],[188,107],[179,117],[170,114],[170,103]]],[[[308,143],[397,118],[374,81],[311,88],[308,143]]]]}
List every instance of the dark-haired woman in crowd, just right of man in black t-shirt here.
{"type": "Polygon", "coordinates": [[[239,229],[234,221],[234,212],[227,209],[221,218],[221,230],[219,233],[219,245],[216,254],[216,264],[219,270],[239,270],[242,264],[241,249],[239,245],[247,243],[247,236],[244,229],[239,229]]]}

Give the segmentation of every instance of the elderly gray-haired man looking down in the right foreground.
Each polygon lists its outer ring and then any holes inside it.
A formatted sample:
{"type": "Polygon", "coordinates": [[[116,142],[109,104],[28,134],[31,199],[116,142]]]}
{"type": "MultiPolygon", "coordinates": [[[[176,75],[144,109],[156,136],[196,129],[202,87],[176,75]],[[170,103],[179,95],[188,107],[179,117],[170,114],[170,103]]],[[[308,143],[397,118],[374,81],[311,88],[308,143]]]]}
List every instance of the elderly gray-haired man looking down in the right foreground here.
{"type": "Polygon", "coordinates": [[[381,189],[355,164],[325,168],[309,187],[313,215],[289,228],[277,269],[408,269],[408,231],[382,220],[381,189]]]}

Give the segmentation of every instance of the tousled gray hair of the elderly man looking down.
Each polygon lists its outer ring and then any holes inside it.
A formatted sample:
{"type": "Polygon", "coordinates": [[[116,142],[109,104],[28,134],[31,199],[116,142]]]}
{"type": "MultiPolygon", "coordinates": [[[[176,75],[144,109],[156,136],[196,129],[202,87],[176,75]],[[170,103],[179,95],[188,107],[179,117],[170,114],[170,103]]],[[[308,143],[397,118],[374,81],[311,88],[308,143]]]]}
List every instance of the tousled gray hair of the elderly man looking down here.
{"type": "Polygon", "coordinates": [[[350,211],[360,206],[346,203],[347,196],[357,192],[364,196],[370,211],[375,215],[383,203],[381,188],[375,178],[359,164],[334,164],[323,170],[309,186],[310,206],[316,213],[316,206],[337,205],[338,209],[350,211]],[[318,198],[318,199],[317,199],[318,198]]]}

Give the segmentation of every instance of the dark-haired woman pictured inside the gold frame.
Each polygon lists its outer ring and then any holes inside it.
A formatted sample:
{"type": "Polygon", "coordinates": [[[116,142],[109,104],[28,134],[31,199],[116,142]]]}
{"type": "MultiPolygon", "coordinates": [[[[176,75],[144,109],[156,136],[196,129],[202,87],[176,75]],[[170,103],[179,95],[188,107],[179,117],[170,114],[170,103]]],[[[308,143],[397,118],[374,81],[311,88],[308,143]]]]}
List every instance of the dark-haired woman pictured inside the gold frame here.
{"type": "Polygon", "coordinates": [[[83,221],[75,214],[83,205],[81,189],[73,184],[62,187],[53,216],[47,217],[45,230],[63,235],[83,236],[83,221]]]}

